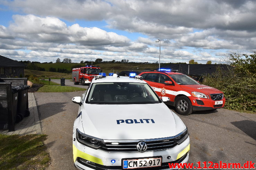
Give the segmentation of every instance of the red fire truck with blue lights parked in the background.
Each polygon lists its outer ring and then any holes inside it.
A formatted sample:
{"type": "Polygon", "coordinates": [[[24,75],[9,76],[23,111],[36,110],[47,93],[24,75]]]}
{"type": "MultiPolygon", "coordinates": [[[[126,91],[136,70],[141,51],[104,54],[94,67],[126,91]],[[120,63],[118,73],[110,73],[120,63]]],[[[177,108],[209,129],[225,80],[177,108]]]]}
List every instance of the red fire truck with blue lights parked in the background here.
{"type": "Polygon", "coordinates": [[[83,86],[90,83],[91,80],[99,75],[101,72],[100,68],[97,66],[85,66],[80,68],[73,68],[72,69],[72,78],[74,84],[81,83],[83,86]]]}

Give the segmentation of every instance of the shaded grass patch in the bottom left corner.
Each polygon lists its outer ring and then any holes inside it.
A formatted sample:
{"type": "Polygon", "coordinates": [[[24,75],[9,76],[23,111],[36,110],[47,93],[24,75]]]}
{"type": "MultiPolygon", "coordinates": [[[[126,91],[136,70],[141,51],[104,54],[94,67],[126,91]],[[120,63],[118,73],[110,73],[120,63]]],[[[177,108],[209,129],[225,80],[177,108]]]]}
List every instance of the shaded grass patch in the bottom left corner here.
{"type": "Polygon", "coordinates": [[[45,170],[50,162],[50,155],[44,145],[45,140],[45,134],[0,134],[0,169],[45,170]]]}

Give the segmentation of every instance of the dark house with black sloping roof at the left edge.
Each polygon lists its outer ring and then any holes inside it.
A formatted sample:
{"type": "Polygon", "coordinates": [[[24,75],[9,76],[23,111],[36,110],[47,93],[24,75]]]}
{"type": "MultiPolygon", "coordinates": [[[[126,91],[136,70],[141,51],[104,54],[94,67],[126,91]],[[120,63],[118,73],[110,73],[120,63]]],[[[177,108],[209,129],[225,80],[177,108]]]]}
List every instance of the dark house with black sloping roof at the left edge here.
{"type": "Polygon", "coordinates": [[[0,55],[0,78],[24,77],[25,64],[0,55]]]}

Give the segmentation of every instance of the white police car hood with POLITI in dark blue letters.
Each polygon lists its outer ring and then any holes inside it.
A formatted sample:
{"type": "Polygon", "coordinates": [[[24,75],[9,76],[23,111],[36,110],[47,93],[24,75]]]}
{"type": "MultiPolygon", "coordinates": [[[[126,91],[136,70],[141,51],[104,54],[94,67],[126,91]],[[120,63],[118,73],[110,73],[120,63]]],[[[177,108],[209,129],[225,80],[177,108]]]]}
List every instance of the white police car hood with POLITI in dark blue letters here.
{"type": "Polygon", "coordinates": [[[85,134],[108,140],[138,140],[175,136],[186,127],[164,103],[85,104],[85,134]],[[151,120],[152,119],[152,120],[151,120]]]}

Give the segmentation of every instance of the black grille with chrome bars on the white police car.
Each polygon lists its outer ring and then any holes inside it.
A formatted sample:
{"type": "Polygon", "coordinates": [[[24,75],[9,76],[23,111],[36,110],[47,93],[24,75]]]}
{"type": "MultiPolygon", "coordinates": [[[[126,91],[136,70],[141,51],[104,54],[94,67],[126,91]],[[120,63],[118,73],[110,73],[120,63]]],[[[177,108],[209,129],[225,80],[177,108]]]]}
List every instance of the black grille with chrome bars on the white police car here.
{"type": "MultiPolygon", "coordinates": [[[[143,140],[140,140],[143,141],[143,140]]],[[[115,141],[116,142],[116,141],[115,141]]],[[[134,142],[119,142],[118,145],[111,144],[111,142],[105,142],[105,146],[101,147],[101,150],[107,152],[139,152],[136,148],[139,141],[134,142]]],[[[170,149],[176,146],[174,139],[171,139],[168,142],[163,142],[162,140],[147,141],[144,140],[148,148],[146,151],[156,151],[156,150],[165,150],[170,149]]]]}

